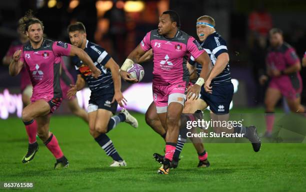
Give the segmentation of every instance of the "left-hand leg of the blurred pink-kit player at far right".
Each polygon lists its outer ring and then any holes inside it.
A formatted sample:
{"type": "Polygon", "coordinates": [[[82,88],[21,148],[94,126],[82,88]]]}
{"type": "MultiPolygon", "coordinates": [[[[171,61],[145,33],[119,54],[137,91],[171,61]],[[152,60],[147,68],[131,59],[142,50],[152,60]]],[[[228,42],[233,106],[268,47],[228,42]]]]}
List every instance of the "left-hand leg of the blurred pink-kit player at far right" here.
{"type": "Polygon", "coordinates": [[[274,87],[267,88],[265,92],[265,123],[266,123],[266,137],[270,137],[274,125],[274,108],[279,99],[281,99],[281,92],[274,87]]]}

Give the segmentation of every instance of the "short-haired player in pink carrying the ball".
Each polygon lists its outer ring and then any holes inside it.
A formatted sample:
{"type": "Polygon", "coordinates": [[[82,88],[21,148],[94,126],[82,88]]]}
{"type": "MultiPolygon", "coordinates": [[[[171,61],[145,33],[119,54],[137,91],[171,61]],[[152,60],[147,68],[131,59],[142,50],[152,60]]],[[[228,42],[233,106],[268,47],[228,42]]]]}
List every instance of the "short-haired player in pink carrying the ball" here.
{"type": "Polygon", "coordinates": [[[150,48],[153,50],[153,100],[156,112],[166,128],[165,160],[157,170],[158,174],[168,174],[175,151],[179,120],[186,100],[186,86],[189,72],[183,62],[185,55],[192,55],[202,64],[203,69],[197,82],[187,89],[188,98],[197,99],[200,87],[208,76],[210,59],[199,43],[179,30],[179,16],[175,11],[164,11],[159,17],[158,29],[148,32],[141,43],[128,55],[121,66],[121,77],[129,82],[137,79],[129,77],[126,69],[150,48]],[[195,95],[195,96],[194,96],[195,95]]]}

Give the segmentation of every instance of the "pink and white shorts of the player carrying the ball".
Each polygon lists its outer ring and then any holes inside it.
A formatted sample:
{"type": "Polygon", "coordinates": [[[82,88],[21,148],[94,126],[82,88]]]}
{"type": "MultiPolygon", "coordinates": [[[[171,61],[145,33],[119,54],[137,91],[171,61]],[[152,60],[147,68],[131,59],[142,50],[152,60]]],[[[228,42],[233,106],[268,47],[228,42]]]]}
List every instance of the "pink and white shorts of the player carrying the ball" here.
{"type": "Polygon", "coordinates": [[[174,83],[170,85],[152,84],[153,101],[156,105],[157,113],[166,113],[167,106],[171,102],[178,102],[184,105],[186,101],[186,87],[188,82],[174,83]]]}

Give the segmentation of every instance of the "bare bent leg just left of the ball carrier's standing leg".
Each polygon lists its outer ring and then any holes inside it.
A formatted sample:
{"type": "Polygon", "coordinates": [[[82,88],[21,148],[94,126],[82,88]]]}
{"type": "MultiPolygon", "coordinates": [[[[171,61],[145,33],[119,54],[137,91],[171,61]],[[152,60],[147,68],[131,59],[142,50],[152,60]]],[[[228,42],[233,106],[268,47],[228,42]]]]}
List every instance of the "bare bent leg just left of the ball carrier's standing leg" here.
{"type": "Polygon", "coordinates": [[[165,129],[162,127],[157,112],[155,103],[152,102],[145,112],[145,122],[150,126],[156,133],[158,133],[163,139],[165,139],[165,129]]]}

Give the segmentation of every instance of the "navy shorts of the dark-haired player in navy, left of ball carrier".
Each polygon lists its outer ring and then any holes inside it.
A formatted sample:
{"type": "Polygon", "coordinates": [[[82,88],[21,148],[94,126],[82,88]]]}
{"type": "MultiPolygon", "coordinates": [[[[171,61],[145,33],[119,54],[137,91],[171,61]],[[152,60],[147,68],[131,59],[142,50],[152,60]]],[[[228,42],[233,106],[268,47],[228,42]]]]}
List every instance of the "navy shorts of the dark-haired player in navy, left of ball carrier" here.
{"type": "Polygon", "coordinates": [[[111,103],[113,95],[113,93],[97,96],[90,95],[88,113],[96,111],[98,109],[105,109],[107,111],[110,111],[112,114],[115,114],[117,111],[118,103],[117,101],[111,103]]]}

